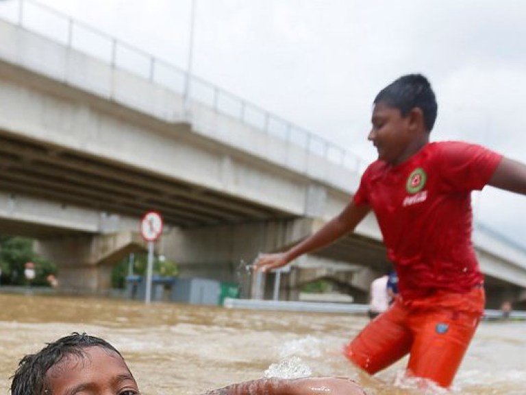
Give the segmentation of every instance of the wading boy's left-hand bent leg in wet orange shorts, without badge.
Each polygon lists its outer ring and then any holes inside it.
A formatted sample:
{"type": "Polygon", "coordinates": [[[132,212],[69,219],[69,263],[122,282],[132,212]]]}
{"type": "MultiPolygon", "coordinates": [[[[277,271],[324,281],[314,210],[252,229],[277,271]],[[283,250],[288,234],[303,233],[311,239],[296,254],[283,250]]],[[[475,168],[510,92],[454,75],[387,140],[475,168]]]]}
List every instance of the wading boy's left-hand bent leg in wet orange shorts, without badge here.
{"type": "Polygon", "coordinates": [[[395,301],[345,347],[345,356],[369,374],[387,368],[411,348],[412,333],[405,326],[406,318],[402,302],[395,301]]]}

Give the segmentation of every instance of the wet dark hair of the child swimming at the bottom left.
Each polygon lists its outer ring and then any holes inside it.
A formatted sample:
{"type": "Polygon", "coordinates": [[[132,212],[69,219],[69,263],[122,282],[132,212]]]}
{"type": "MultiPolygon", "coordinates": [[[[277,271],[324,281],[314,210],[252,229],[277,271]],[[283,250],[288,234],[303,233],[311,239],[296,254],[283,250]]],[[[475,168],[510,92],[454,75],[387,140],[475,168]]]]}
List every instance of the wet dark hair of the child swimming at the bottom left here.
{"type": "Polygon", "coordinates": [[[45,348],[35,354],[23,357],[18,362],[18,368],[12,376],[11,395],[43,395],[45,393],[51,395],[47,371],[69,355],[84,357],[84,350],[95,346],[116,352],[117,355],[123,357],[114,346],[105,340],[86,335],[86,333],[80,335],[74,332],[53,343],[48,343],[45,348]]]}

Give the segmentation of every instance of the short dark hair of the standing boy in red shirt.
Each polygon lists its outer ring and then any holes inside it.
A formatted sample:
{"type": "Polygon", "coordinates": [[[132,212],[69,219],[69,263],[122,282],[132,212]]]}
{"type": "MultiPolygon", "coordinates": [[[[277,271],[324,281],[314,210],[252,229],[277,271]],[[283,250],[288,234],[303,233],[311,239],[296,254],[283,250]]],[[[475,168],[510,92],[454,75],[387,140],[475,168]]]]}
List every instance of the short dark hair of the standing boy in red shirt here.
{"type": "Polygon", "coordinates": [[[408,74],[399,77],[375,97],[374,104],[383,102],[392,108],[398,108],[402,117],[413,108],[420,108],[424,115],[424,126],[431,132],[435,125],[438,106],[431,84],[421,74],[408,74]]]}

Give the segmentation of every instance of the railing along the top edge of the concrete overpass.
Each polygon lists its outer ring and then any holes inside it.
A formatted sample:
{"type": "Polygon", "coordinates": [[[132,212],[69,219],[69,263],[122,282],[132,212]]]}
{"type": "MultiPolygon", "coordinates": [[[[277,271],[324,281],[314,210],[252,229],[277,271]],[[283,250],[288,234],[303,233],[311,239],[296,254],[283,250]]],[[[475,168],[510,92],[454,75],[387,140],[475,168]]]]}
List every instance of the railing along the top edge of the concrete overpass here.
{"type": "Polygon", "coordinates": [[[48,5],[35,0],[8,1],[1,4],[0,17],[75,51],[103,60],[112,67],[165,86],[332,163],[358,173],[366,167],[366,162],[353,152],[48,5]]]}

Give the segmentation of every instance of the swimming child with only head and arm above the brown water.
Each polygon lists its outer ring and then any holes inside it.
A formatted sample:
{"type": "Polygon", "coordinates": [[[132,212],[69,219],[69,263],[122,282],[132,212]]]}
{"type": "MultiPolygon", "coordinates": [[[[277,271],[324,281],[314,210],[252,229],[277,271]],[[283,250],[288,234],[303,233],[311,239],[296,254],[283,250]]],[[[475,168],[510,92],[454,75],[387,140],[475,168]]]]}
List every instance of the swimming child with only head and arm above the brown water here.
{"type": "MultiPolygon", "coordinates": [[[[176,392],[174,392],[176,393],[176,392]]],[[[121,352],[100,337],[72,333],[25,355],[12,376],[11,395],[139,395],[121,352]]],[[[349,379],[260,379],[208,395],[365,395],[349,379]]]]}

